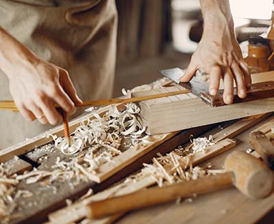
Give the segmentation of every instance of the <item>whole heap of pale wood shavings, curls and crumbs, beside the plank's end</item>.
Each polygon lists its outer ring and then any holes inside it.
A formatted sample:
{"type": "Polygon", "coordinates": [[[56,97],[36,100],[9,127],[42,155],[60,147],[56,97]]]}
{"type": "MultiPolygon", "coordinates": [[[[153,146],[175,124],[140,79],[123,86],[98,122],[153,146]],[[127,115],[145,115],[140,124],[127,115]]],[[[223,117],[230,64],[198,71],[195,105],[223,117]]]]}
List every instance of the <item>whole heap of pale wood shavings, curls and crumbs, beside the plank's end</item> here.
{"type": "Polygon", "coordinates": [[[56,160],[56,168],[63,171],[73,171],[77,175],[84,174],[88,180],[97,173],[97,169],[108,163],[114,156],[121,154],[121,141],[125,138],[125,148],[146,145],[150,143],[149,137],[144,134],[145,128],[138,120],[139,107],[130,103],[126,109],[118,111],[112,107],[103,117],[94,113],[94,120],[83,121],[72,133],[73,145],[69,147],[66,139],[55,139],[55,147],[63,154],[74,155],[69,161],[56,160]]]}

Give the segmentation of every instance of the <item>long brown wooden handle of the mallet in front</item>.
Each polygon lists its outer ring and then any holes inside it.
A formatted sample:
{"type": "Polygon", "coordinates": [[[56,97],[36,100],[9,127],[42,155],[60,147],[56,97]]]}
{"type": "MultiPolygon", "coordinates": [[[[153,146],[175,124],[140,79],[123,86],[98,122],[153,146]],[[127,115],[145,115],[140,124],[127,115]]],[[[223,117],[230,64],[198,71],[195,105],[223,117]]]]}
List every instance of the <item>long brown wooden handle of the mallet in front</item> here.
{"type": "Polygon", "coordinates": [[[193,194],[216,191],[220,188],[232,186],[233,177],[234,174],[232,172],[221,173],[216,176],[199,178],[199,180],[190,180],[163,187],[155,186],[128,195],[94,201],[87,205],[88,217],[90,219],[101,219],[112,214],[173,201],[180,197],[191,197],[193,194]]]}

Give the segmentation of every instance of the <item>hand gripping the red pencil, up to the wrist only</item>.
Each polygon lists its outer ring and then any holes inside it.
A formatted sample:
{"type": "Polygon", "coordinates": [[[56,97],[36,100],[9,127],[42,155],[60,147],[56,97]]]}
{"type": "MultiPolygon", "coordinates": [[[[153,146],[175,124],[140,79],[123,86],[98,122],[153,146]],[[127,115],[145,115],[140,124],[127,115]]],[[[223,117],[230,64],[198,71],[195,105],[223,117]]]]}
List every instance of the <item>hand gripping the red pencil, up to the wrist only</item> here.
{"type": "Polygon", "coordinates": [[[10,93],[19,111],[29,121],[55,125],[62,119],[54,104],[67,113],[75,112],[81,104],[68,72],[37,57],[20,59],[8,70],[10,93]],[[60,85],[62,79],[62,85],[60,85]]]}

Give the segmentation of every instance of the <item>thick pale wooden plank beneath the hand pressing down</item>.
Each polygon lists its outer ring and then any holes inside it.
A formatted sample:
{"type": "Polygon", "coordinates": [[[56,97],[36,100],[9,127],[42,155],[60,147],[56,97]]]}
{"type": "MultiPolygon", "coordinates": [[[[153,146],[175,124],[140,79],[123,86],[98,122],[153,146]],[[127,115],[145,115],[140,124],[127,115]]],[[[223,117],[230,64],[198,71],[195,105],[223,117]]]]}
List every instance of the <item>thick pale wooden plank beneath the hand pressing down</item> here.
{"type": "MultiPolygon", "coordinates": [[[[159,91],[164,92],[165,90],[159,89],[159,91]]],[[[138,96],[138,93],[135,96],[138,96]]],[[[142,124],[148,127],[147,133],[149,135],[184,130],[274,111],[274,98],[222,107],[210,107],[199,98],[174,102],[159,101],[145,100],[140,102],[142,124]]]]}

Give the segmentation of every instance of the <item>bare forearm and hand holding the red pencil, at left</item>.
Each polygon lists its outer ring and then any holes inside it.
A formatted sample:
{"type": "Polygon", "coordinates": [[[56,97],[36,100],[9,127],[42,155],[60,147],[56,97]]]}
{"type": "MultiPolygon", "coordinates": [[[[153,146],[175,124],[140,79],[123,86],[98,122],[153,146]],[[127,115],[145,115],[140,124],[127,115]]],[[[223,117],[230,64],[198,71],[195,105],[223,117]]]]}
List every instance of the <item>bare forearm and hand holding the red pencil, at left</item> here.
{"type": "Polygon", "coordinates": [[[61,120],[55,103],[73,113],[75,104],[82,102],[66,70],[39,59],[1,28],[0,49],[0,68],[8,76],[10,93],[25,119],[40,117],[40,123],[54,125],[61,120]]]}

